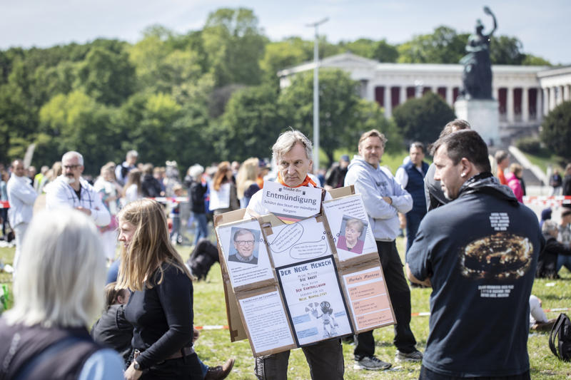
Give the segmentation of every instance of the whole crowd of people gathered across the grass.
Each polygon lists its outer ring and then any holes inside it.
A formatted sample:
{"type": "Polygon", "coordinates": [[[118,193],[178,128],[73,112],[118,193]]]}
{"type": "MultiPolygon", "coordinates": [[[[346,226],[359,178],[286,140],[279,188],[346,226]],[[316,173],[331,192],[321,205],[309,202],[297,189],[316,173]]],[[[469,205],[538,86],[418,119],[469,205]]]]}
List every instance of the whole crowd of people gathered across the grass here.
{"type": "MultiPolygon", "coordinates": [[[[196,276],[176,250],[183,241],[181,203],[190,207],[187,225],[194,223],[198,247],[209,236],[212,215],[239,208],[246,218],[268,213],[261,189],[264,180],[276,180],[290,188],[353,185],[363,197],[395,315],[395,361],[422,361],[420,379],[529,379],[527,333],[550,325],[532,283],[536,276],[556,278],[564,265],[571,270],[571,208],[562,207],[559,224],[545,210],[540,227],[522,205],[521,166],[510,165],[504,150],[491,156],[465,120],[444,126],[431,147],[431,165],[425,145],[413,142],[393,175],[380,165],[385,143],[383,133],[369,130],[355,141],[353,159],[343,155],[317,176],[310,173],[313,146],[298,130],[276,140],[273,171],[266,160],[249,158],[206,170],[195,164],[181,179],[176,162],[138,164],[131,150],[123,163],[103,165],[91,183],[75,151],[38,174],[14,160],[3,187],[9,213],[1,216],[16,235],[15,303],[0,319],[0,340],[9,342],[0,348],[0,374],[224,379],[232,358],[211,367],[194,350],[196,276]],[[46,210],[34,213],[39,196],[46,210]],[[404,265],[395,242],[403,229],[404,265]],[[76,260],[66,260],[69,252],[76,260]],[[424,353],[410,329],[407,278],[433,289],[424,353]]],[[[563,189],[571,183],[571,165],[565,174],[563,189]]],[[[325,191],[324,199],[330,197],[325,191]]],[[[348,221],[346,228],[343,244],[353,249],[363,222],[348,221]]],[[[245,252],[236,260],[251,257],[245,252]]],[[[392,366],[375,356],[372,330],[354,339],[355,368],[392,366]]],[[[343,379],[340,339],[302,349],[312,379],[343,379]]],[[[258,379],[287,379],[289,354],[256,357],[258,379]]]]}

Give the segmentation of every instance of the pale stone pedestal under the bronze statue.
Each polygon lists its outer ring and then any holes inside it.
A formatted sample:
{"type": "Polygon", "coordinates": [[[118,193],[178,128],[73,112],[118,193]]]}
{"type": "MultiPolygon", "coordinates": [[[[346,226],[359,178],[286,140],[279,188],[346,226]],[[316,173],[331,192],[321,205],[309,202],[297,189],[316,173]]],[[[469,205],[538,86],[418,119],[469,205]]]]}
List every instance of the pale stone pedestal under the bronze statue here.
{"type": "Polygon", "coordinates": [[[488,146],[500,145],[500,103],[495,99],[470,99],[454,103],[456,117],[472,125],[488,146]]]}

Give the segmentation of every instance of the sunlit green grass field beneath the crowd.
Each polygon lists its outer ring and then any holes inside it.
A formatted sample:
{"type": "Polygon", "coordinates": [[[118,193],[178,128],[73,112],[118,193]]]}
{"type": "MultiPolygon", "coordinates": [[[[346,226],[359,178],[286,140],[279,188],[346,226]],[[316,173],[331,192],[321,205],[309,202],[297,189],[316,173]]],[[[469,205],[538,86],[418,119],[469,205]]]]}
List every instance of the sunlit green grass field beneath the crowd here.
{"type": "MultiPolygon", "coordinates": [[[[404,240],[398,239],[401,256],[404,254],[404,240]]],[[[178,247],[178,251],[186,260],[190,255],[190,247],[178,247]]],[[[14,248],[0,248],[0,260],[11,264],[14,248]]],[[[562,279],[537,279],[533,285],[533,294],[543,301],[544,309],[571,307],[571,273],[562,269],[562,279]]],[[[0,273],[0,282],[7,283],[11,289],[11,275],[0,273]]],[[[430,310],[428,299],[430,289],[411,289],[412,309],[415,312],[430,310]]],[[[547,317],[557,317],[558,312],[548,312],[547,317]]],[[[222,289],[222,277],[218,264],[211,268],[206,281],[194,284],[194,322],[196,326],[225,325],[226,307],[222,289]]],[[[418,341],[418,349],[424,351],[428,337],[428,317],[413,317],[411,328],[418,341]]],[[[353,345],[343,344],[345,358],[345,379],[418,379],[420,364],[399,364],[394,361],[395,347],[393,328],[385,327],[375,330],[376,354],[393,363],[387,371],[362,371],[353,369],[353,345]]],[[[547,333],[530,334],[527,343],[531,362],[532,379],[568,379],[571,376],[571,364],[558,361],[552,355],[547,333]]],[[[490,342],[493,344],[493,342],[490,342]]],[[[228,330],[205,330],[196,342],[198,356],[208,365],[216,366],[228,357],[236,358],[236,364],[229,379],[255,379],[253,375],[253,356],[248,341],[231,343],[228,330]]],[[[305,356],[300,349],[291,352],[289,379],[310,379],[305,356]]]]}

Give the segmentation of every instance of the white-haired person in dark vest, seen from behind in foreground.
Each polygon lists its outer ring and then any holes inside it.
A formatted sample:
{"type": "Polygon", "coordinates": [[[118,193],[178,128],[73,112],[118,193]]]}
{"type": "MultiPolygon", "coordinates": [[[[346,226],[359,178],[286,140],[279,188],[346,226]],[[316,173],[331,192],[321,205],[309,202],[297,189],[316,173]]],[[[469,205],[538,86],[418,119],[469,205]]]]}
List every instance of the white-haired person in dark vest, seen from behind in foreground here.
{"type": "Polygon", "coordinates": [[[123,379],[123,360],[87,327],[101,312],[105,257],[89,217],[69,209],[34,216],[0,319],[0,377],[123,379]]]}

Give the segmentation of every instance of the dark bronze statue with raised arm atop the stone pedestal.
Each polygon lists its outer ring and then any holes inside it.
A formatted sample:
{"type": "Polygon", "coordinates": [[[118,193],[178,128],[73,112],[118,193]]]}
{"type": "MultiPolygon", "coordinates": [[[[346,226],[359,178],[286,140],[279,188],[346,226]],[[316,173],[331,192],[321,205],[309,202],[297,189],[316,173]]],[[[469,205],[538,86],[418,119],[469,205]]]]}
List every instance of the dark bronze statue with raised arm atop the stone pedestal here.
{"type": "Polygon", "coordinates": [[[492,61],[490,60],[490,37],[497,29],[494,14],[487,6],[484,13],[492,16],[494,28],[490,34],[482,34],[484,26],[482,21],[476,21],[476,32],[468,38],[466,51],[468,54],[460,59],[464,65],[462,76],[463,89],[460,98],[464,99],[492,99],[492,61]]]}

